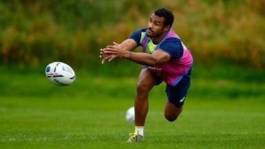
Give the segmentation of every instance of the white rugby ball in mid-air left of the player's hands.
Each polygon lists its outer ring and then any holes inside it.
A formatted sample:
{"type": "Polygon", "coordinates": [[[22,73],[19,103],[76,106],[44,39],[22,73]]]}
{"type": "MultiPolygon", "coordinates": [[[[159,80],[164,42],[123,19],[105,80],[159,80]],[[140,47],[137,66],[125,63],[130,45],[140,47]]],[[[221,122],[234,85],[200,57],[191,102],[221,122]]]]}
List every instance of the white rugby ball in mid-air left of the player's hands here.
{"type": "Polygon", "coordinates": [[[52,62],[45,68],[46,77],[50,82],[65,87],[76,80],[74,69],[63,62],[52,62]]]}

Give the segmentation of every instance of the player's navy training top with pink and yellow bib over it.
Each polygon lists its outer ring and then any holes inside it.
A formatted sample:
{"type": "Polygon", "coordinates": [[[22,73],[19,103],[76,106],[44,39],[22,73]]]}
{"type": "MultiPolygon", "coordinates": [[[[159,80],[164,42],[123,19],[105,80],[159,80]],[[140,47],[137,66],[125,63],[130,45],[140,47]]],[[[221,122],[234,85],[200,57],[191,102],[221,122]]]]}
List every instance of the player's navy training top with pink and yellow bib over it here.
{"type": "Polygon", "coordinates": [[[152,54],[156,49],[160,49],[170,55],[170,60],[165,64],[146,67],[171,86],[176,86],[193,65],[191,52],[172,29],[157,45],[147,36],[147,28],[136,30],[129,38],[136,41],[138,46],[142,46],[145,53],[152,54]]]}

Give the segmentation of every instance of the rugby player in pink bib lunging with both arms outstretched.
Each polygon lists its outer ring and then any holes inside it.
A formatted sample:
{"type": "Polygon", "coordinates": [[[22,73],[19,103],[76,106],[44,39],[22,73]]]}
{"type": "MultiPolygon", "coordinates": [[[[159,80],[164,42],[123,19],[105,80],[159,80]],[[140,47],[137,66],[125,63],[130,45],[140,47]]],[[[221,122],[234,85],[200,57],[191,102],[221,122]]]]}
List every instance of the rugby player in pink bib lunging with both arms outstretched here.
{"type": "Polygon", "coordinates": [[[136,30],[120,44],[114,42],[114,45],[100,49],[102,63],[115,58],[127,58],[143,65],[134,102],[135,132],[131,133],[129,142],[143,141],[148,95],[162,81],[167,83],[165,118],[173,122],[182,111],[191,85],[193,58],[180,37],[171,29],[173,20],[170,10],[159,8],[151,14],[147,28],[136,30]],[[142,52],[133,51],[138,46],[142,46],[142,52]]]}

